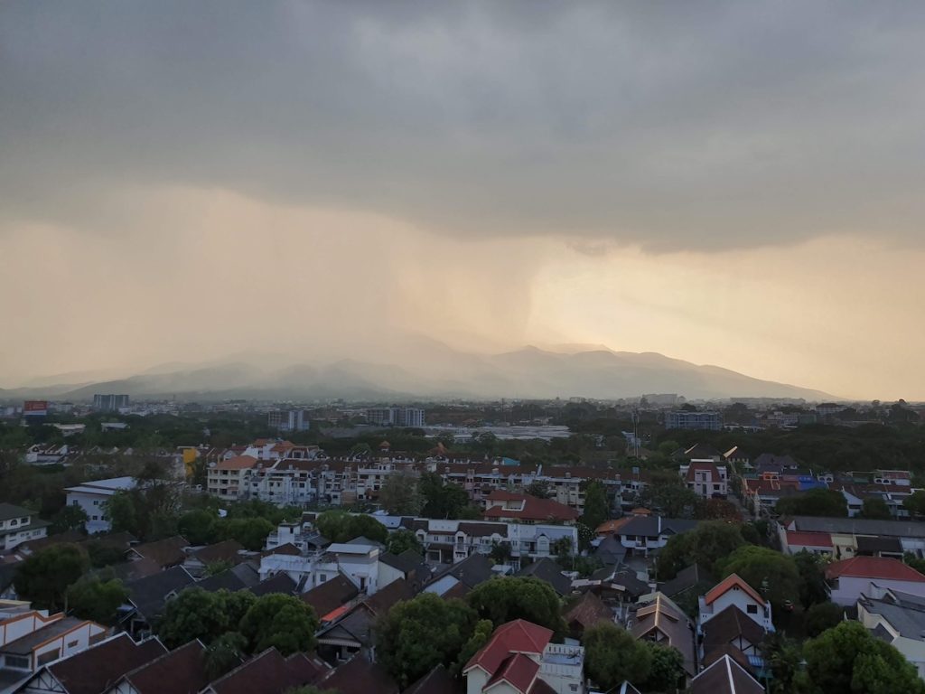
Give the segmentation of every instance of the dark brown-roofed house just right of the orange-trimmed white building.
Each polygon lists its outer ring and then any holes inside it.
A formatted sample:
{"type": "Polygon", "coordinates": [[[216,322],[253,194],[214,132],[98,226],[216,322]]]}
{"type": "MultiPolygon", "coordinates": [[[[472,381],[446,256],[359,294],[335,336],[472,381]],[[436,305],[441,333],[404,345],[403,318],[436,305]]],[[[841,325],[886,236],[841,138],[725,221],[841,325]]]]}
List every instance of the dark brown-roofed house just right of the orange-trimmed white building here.
{"type": "Polygon", "coordinates": [[[19,685],[16,694],[98,694],[129,670],[166,652],[156,638],[135,643],[122,632],[86,651],[43,666],[19,685]]]}

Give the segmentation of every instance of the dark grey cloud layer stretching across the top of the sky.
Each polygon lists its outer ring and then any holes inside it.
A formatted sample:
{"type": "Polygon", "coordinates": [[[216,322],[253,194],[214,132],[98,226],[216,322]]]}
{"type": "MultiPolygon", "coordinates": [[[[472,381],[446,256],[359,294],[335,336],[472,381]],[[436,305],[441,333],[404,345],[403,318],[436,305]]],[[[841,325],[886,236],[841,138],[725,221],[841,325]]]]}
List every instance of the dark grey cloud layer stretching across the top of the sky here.
{"type": "Polygon", "coordinates": [[[595,251],[921,242],[923,79],[920,4],[7,0],[0,232],[170,185],[595,251]]]}

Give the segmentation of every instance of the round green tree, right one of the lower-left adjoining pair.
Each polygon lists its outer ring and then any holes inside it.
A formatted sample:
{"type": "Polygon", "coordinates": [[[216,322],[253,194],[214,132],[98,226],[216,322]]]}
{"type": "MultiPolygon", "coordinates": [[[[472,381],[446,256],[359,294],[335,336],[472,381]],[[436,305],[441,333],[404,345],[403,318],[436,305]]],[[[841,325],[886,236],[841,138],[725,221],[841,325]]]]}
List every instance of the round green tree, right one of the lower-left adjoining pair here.
{"type": "Polygon", "coordinates": [[[251,652],[275,647],[283,655],[314,648],[320,623],[310,605],[291,595],[270,593],[257,598],[240,620],[240,633],[251,652]]]}

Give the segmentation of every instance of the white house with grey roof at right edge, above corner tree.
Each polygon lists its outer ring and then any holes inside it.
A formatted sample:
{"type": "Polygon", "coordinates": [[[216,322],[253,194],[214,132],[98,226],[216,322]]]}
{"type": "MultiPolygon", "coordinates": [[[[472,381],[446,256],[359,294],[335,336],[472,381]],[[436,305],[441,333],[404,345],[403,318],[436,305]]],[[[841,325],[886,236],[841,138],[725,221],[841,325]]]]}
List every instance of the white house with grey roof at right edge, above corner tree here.
{"type": "Polygon", "coordinates": [[[857,599],[857,621],[892,644],[925,679],[925,598],[871,584],[857,599]]]}

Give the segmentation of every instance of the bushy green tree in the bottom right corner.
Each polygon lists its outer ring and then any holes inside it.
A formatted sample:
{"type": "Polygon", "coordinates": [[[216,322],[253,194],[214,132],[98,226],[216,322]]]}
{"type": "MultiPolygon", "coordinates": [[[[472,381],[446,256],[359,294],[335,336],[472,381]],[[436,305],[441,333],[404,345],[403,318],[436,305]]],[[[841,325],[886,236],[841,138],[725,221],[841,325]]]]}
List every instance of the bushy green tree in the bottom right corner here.
{"type": "Polygon", "coordinates": [[[803,656],[813,694],[925,693],[915,666],[859,622],[842,622],[810,639],[803,656]]]}

